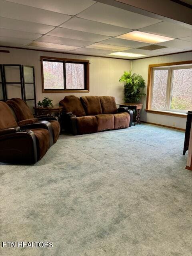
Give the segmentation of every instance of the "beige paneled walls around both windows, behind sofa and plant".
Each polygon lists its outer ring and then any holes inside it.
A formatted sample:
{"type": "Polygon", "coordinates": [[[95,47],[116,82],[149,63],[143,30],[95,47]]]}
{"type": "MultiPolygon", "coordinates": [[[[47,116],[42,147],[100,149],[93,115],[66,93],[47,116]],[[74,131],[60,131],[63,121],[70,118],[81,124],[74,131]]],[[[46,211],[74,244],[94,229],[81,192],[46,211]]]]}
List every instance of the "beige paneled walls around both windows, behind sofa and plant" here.
{"type": "MultiPolygon", "coordinates": [[[[6,50],[6,48],[2,48],[2,50],[6,50]]],[[[146,80],[147,85],[149,64],[192,60],[192,52],[130,61],[13,48],[7,48],[7,50],[10,50],[9,54],[0,53],[0,64],[25,64],[35,66],[37,101],[47,96],[53,100],[54,105],[58,105],[59,101],[63,99],[64,96],[72,93],[42,93],[40,56],[90,60],[90,92],[74,93],[74,95],[79,97],[84,95],[110,95],[116,98],[117,103],[122,102],[123,99],[123,86],[118,80],[125,70],[132,69],[132,72],[141,74],[146,80]]],[[[143,99],[143,102],[143,121],[167,126],[173,126],[173,122],[175,122],[175,127],[185,128],[185,118],[146,113],[144,110],[146,108],[146,97],[143,99]]]]}

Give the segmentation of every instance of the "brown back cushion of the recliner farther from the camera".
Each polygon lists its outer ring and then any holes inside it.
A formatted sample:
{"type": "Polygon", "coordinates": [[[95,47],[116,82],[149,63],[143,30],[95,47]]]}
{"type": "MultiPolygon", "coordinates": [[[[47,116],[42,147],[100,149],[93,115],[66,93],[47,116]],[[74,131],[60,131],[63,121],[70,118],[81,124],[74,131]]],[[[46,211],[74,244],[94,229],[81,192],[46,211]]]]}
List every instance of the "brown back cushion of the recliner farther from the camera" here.
{"type": "Polygon", "coordinates": [[[12,108],[15,112],[17,121],[20,122],[25,119],[34,118],[30,108],[26,104],[26,102],[20,98],[12,98],[7,100],[6,103],[12,108]]]}

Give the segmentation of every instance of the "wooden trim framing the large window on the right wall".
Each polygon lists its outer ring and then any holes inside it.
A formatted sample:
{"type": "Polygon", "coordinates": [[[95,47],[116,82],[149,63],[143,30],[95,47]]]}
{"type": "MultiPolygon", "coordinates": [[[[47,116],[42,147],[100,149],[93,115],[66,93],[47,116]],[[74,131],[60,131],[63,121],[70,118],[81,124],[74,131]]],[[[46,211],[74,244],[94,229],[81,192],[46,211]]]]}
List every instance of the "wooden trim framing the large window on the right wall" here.
{"type": "Polygon", "coordinates": [[[160,64],[151,64],[148,67],[148,82],[147,82],[147,99],[146,99],[146,112],[167,116],[177,116],[186,118],[187,114],[184,113],[175,113],[171,111],[162,111],[162,110],[152,110],[151,106],[151,96],[152,96],[152,70],[154,67],[163,67],[163,66],[175,66],[175,65],[184,65],[184,64],[192,64],[192,60],[180,61],[180,62],[170,62],[170,63],[160,63],[160,64]]]}

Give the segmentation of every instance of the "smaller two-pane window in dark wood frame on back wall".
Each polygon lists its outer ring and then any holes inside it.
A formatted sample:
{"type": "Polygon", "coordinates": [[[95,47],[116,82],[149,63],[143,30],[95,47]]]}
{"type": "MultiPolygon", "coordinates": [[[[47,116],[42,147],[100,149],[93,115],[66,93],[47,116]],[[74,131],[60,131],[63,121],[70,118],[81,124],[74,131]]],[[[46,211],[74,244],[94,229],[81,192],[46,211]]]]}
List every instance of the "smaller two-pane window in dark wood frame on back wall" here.
{"type": "Polygon", "coordinates": [[[41,57],[43,92],[88,92],[89,61],[41,57]]]}

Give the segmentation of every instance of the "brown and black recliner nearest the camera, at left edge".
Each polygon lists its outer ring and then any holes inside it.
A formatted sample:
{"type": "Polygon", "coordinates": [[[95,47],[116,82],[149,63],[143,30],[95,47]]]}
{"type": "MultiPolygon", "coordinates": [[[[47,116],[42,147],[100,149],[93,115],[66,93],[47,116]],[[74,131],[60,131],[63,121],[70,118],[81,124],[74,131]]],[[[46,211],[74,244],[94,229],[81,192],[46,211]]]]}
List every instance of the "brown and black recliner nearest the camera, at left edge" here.
{"type": "Polygon", "coordinates": [[[10,108],[0,102],[0,162],[34,164],[47,152],[50,133],[41,127],[20,130],[10,108]]]}

